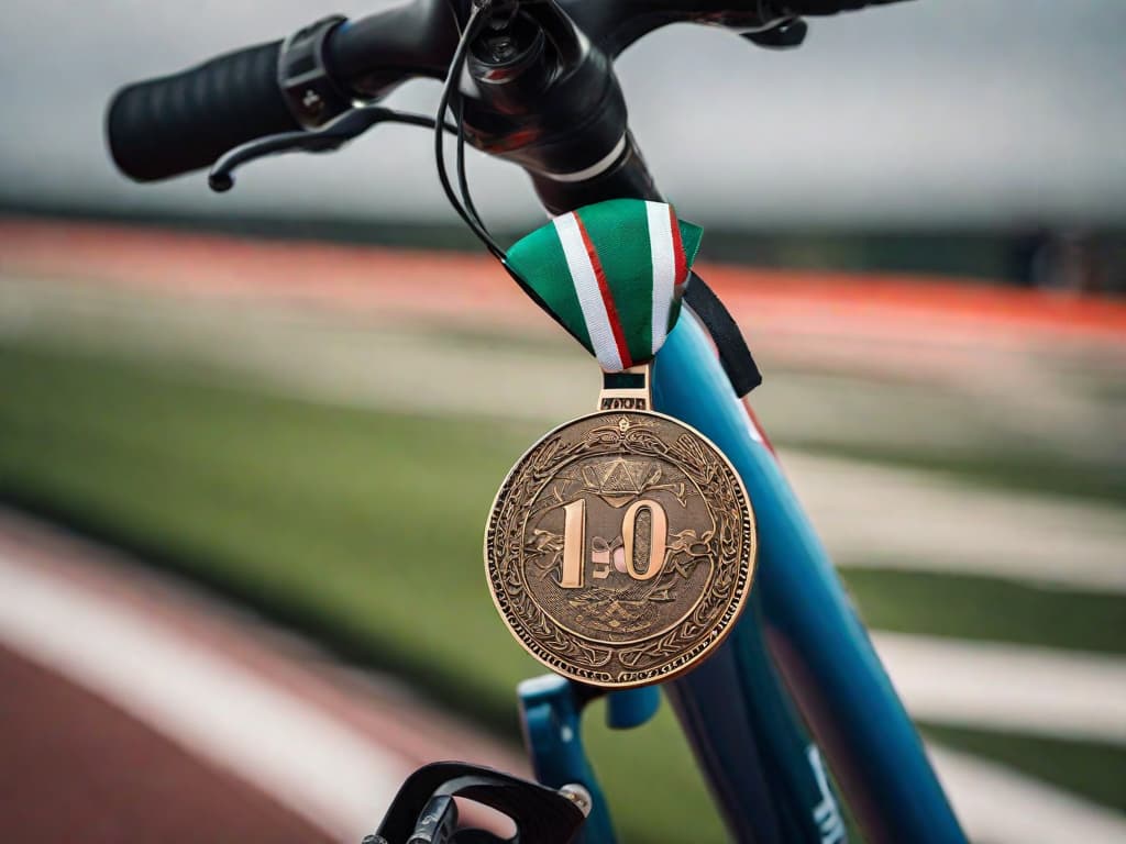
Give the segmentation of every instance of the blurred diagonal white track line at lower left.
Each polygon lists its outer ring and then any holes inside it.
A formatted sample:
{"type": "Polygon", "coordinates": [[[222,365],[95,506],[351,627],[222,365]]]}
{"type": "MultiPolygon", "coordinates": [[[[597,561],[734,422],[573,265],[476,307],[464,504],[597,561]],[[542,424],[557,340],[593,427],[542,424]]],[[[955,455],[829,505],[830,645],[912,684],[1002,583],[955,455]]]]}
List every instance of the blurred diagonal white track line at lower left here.
{"type": "Polygon", "coordinates": [[[0,556],[0,640],[108,699],[342,841],[406,764],[361,733],[117,602],[0,556]]]}

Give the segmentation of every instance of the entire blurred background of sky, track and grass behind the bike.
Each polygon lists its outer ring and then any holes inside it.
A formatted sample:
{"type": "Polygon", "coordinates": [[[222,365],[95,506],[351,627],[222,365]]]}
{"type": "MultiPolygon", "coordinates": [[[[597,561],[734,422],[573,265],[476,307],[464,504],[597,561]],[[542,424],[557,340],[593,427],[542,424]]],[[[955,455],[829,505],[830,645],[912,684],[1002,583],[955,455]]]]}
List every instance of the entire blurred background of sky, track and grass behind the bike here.
{"type": "MultiPolygon", "coordinates": [[[[102,138],[122,84],[386,5],[0,8],[8,839],[59,806],[106,841],[358,839],[414,763],[520,764],[540,670],[482,524],[590,361],[455,225],[427,133],[224,196],[128,182],[102,138]]],[[[1114,0],[922,1],[618,65],[976,841],[1126,838],[1124,30],[1114,0]]],[[[543,223],[521,172],[470,168],[500,240],[543,223]]],[[[724,839],[667,709],[588,725],[627,839],[724,839]]]]}

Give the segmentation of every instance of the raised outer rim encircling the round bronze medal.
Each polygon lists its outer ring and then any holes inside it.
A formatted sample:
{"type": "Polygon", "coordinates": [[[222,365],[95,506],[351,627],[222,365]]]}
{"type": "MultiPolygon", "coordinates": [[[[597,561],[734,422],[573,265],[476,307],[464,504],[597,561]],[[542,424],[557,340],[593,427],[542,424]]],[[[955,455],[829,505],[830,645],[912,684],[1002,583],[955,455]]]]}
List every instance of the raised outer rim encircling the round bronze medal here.
{"type": "MultiPolygon", "coordinates": [[[[616,408],[616,410],[597,410],[597,411],[593,411],[592,413],[586,413],[586,414],[583,414],[581,416],[575,416],[574,419],[569,420],[568,422],[563,422],[563,423],[561,423],[558,425],[555,425],[549,431],[547,431],[544,434],[542,434],[534,443],[531,443],[531,446],[529,446],[527,449],[525,449],[524,452],[520,455],[520,457],[517,458],[517,460],[512,464],[512,467],[508,470],[508,473],[506,473],[504,479],[501,481],[500,487],[498,487],[497,494],[493,496],[492,505],[489,508],[489,514],[485,518],[485,532],[484,532],[484,538],[483,538],[483,541],[482,541],[482,554],[483,554],[483,557],[484,557],[485,580],[486,580],[486,582],[489,584],[489,596],[492,599],[493,607],[497,610],[497,614],[500,616],[501,620],[504,622],[504,627],[508,628],[508,631],[512,636],[512,638],[516,639],[520,644],[520,647],[522,647],[537,662],[539,662],[540,664],[547,666],[554,673],[560,674],[560,675],[562,675],[562,676],[564,676],[568,680],[571,680],[573,682],[583,683],[584,685],[593,685],[593,686],[598,686],[598,688],[602,688],[602,689],[636,689],[636,688],[646,686],[646,685],[655,685],[658,683],[663,683],[663,682],[669,681],[669,680],[674,680],[674,679],[683,675],[685,673],[687,673],[687,672],[691,671],[694,667],[696,667],[701,661],[707,659],[709,656],[713,656],[714,653],[715,653],[715,650],[721,645],[723,645],[723,643],[724,643],[724,640],[726,640],[727,636],[731,635],[731,631],[734,629],[734,627],[738,623],[740,617],[743,614],[743,610],[747,609],[747,602],[750,599],[751,590],[754,586],[754,575],[758,572],[758,556],[759,556],[758,520],[757,520],[757,518],[754,515],[754,506],[751,504],[751,496],[750,496],[750,493],[748,493],[748,491],[747,491],[747,484],[743,482],[743,476],[739,473],[739,469],[735,468],[734,464],[732,464],[731,459],[723,451],[723,449],[721,449],[718,446],[716,446],[715,442],[713,442],[709,437],[707,437],[706,434],[704,434],[703,432],[700,432],[695,425],[691,425],[691,424],[689,424],[688,422],[686,422],[686,421],[683,421],[681,419],[677,419],[676,416],[670,416],[667,413],[661,413],[660,411],[653,411],[653,410],[647,410],[647,408],[643,410],[643,408],[625,408],[625,407],[623,407],[623,408],[616,408]],[[555,665],[554,663],[548,662],[547,658],[545,658],[540,654],[536,653],[524,640],[524,638],[518,634],[518,631],[516,630],[515,626],[512,625],[512,622],[509,620],[508,616],[506,614],[504,610],[501,608],[500,601],[497,598],[497,591],[492,587],[491,560],[490,560],[490,555],[489,555],[489,538],[490,538],[490,535],[493,532],[492,529],[494,527],[494,515],[497,513],[497,504],[500,502],[501,494],[508,488],[509,482],[511,481],[511,478],[512,478],[513,474],[516,473],[516,470],[524,465],[524,463],[528,459],[528,456],[531,455],[533,451],[535,451],[537,448],[539,448],[540,443],[543,443],[549,437],[558,433],[563,429],[570,428],[571,425],[574,425],[577,423],[587,422],[587,421],[596,419],[596,417],[606,417],[606,419],[617,417],[617,419],[620,419],[622,416],[624,416],[626,414],[637,414],[637,415],[642,415],[642,416],[654,416],[654,417],[658,417],[658,419],[667,420],[667,421],[672,422],[673,424],[679,425],[680,428],[687,430],[688,432],[695,434],[696,437],[699,437],[705,443],[707,443],[707,446],[712,449],[712,451],[715,455],[718,456],[718,458],[723,461],[723,464],[731,472],[731,475],[732,475],[732,477],[735,481],[736,488],[740,491],[740,493],[742,493],[743,502],[747,505],[747,509],[745,509],[747,519],[750,522],[750,531],[749,531],[750,532],[750,541],[748,542],[748,545],[750,545],[750,549],[747,551],[747,584],[745,584],[745,586],[743,589],[742,594],[739,596],[738,601],[735,602],[734,613],[733,613],[731,620],[722,629],[720,629],[718,635],[716,636],[716,638],[709,645],[707,645],[704,648],[704,650],[701,650],[699,654],[696,654],[696,656],[691,657],[683,665],[680,665],[680,666],[678,666],[677,668],[674,668],[672,671],[669,671],[669,672],[665,672],[665,673],[661,673],[658,676],[647,677],[647,679],[643,679],[643,680],[602,681],[602,680],[593,680],[591,677],[579,676],[573,671],[560,668],[558,665],[555,665]]],[[[554,619],[553,619],[553,621],[554,621],[554,619]]],[[[554,621],[554,623],[556,623],[561,628],[568,630],[569,634],[578,636],[578,634],[574,634],[574,631],[570,630],[569,628],[563,627],[563,625],[561,625],[560,622],[554,621]]],[[[680,622],[678,621],[677,623],[680,623],[680,622]]],[[[645,637],[645,638],[654,638],[655,636],[659,636],[659,635],[660,634],[654,634],[652,637],[645,637]]],[[[584,637],[580,636],[579,638],[584,638],[584,637]]],[[[597,640],[595,640],[595,641],[597,641],[597,640]]],[[[619,644],[623,644],[623,643],[619,643],[619,644]]],[[[555,657],[555,658],[558,659],[560,662],[563,662],[560,657],[555,657]]]]}

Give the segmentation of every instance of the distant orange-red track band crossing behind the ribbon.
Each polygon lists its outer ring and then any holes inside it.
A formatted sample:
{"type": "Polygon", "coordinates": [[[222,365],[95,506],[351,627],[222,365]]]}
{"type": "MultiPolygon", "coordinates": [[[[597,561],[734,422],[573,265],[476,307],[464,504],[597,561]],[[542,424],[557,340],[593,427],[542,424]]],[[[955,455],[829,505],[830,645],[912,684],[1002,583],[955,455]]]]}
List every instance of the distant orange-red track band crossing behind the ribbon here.
{"type": "MultiPolygon", "coordinates": [[[[0,270],[542,324],[490,258],[0,218],[0,270]]],[[[1126,303],[940,278],[701,264],[736,316],[803,333],[1126,345],[1126,303]]]]}

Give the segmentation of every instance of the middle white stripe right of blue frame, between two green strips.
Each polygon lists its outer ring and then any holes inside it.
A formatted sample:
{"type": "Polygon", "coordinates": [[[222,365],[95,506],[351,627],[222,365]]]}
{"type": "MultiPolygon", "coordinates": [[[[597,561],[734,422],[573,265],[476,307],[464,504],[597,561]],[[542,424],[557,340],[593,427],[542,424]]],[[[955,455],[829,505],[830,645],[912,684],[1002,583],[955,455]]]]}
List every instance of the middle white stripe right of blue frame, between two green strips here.
{"type": "Polygon", "coordinates": [[[1126,661],[1093,654],[873,635],[919,720],[1126,744],[1126,661]]]}

